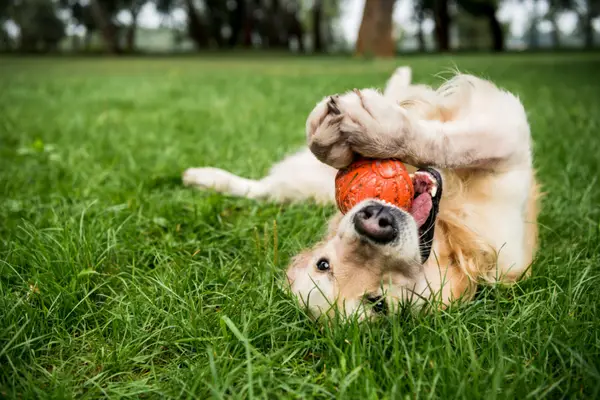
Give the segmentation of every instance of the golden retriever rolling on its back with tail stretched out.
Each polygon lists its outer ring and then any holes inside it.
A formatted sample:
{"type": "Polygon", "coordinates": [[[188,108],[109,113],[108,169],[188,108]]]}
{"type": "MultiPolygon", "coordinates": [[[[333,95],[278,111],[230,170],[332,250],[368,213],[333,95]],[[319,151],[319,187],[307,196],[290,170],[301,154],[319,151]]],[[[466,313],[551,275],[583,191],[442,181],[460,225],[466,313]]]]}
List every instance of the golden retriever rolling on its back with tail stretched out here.
{"type": "Polygon", "coordinates": [[[416,192],[411,210],[362,201],[293,257],[289,287],[315,317],[446,307],[472,299],[479,284],[530,275],[540,191],[522,103],[473,75],[457,73],[437,89],[411,77],[400,67],[382,93],[322,99],[306,122],[308,148],[261,180],[216,168],[183,174],[185,185],[233,196],[332,203],[337,171],[357,156],[406,164],[416,192]]]}

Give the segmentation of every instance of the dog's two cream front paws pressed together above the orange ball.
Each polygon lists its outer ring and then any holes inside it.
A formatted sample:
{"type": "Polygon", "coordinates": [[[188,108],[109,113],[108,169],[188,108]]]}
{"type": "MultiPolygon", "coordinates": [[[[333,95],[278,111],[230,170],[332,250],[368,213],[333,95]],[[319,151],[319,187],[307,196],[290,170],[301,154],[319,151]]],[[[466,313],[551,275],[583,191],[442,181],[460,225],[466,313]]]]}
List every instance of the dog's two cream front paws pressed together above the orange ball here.
{"type": "Polygon", "coordinates": [[[323,100],[307,121],[308,145],[322,162],[346,167],[355,154],[397,156],[407,131],[404,110],[375,90],[354,90],[323,100]]]}

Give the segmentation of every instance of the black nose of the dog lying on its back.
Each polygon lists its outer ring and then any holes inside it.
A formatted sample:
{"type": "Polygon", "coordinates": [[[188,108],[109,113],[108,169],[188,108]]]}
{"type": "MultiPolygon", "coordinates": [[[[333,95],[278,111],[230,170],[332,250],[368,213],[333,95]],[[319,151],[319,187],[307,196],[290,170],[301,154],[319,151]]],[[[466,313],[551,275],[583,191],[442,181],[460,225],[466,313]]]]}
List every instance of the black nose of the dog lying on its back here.
{"type": "Polygon", "coordinates": [[[354,226],[358,233],[378,243],[389,243],[398,234],[390,207],[380,204],[366,206],[356,213],[354,226]]]}

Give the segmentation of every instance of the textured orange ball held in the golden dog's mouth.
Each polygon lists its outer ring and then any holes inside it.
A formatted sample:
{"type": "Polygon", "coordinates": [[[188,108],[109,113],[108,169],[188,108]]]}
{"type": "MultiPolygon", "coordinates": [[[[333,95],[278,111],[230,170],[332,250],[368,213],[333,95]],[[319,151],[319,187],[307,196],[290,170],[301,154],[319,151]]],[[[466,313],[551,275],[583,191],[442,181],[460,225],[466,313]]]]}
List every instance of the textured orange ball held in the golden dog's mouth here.
{"type": "Polygon", "coordinates": [[[343,214],[373,198],[408,210],[414,193],[410,175],[398,160],[360,159],[339,170],[335,177],[335,200],[343,214]]]}

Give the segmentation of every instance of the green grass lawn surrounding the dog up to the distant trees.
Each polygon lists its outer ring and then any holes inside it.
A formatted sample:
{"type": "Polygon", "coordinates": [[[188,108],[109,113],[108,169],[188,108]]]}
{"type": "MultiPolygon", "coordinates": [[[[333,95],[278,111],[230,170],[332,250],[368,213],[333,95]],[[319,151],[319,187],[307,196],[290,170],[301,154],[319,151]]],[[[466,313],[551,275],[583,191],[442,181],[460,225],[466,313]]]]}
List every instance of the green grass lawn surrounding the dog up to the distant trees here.
{"type": "Polygon", "coordinates": [[[600,56],[0,60],[0,397],[598,398],[600,56]],[[334,329],[280,289],[333,209],[260,177],[326,94],[458,66],[519,94],[547,192],[533,276],[334,329]]]}

